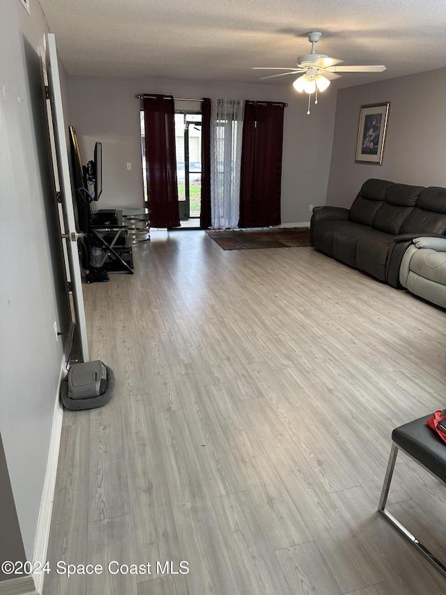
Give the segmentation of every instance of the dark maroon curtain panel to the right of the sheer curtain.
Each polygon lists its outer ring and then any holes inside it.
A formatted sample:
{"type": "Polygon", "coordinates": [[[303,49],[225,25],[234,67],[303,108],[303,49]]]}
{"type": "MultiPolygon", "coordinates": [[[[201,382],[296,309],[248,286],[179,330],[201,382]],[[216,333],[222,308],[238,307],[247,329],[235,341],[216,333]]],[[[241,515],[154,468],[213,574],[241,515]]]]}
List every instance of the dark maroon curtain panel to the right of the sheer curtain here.
{"type": "Polygon", "coordinates": [[[239,227],[280,223],[284,103],[245,102],[239,227]]]}

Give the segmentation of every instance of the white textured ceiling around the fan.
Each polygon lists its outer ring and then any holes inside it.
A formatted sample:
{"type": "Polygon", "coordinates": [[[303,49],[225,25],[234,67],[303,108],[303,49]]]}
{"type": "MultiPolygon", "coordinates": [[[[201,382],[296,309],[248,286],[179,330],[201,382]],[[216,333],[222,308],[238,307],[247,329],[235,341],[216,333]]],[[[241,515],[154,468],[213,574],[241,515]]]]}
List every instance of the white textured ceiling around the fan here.
{"type": "Polygon", "coordinates": [[[70,75],[261,82],[252,67],[293,67],[314,29],[319,54],[387,67],[337,87],[446,66],[446,0],[39,1],[70,75]]]}

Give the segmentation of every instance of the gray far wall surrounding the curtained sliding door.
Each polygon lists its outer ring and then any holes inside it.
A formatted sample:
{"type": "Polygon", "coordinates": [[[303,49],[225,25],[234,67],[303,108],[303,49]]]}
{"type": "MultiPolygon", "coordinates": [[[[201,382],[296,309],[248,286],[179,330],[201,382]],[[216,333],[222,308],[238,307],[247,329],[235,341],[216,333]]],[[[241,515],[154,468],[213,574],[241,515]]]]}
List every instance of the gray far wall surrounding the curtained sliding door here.
{"type": "MultiPolygon", "coordinates": [[[[287,86],[206,81],[69,77],[72,121],[82,160],[102,141],[100,206],[141,206],[143,186],[138,93],[177,98],[275,100],[288,103],[284,116],[282,223],[308,221],[309,204],[325,202],[336,95],[329,89],[307,116],[305,96],[287,86]],[[132,163],[132,171],[126,163],[132,163]]],[[[194,105],[197,109],[197,105],[194,105]]]]}

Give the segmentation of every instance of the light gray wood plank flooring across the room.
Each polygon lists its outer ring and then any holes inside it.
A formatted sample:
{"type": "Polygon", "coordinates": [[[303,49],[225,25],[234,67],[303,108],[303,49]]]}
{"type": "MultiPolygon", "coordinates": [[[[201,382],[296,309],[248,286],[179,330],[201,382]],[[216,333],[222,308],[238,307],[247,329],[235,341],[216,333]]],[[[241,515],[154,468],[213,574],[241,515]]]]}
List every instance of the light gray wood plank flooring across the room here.
{"type": "MultiPolygon", "coordinates": [[[[134,263],[84,287],[116,395],[64,414],[44,594],[444,594],[376,509],[392,429],[445,406],[445,312],[312,248],[159,231],[134,263]]],[[[446,559],[405,456],[389,506],[446,559]]]]}

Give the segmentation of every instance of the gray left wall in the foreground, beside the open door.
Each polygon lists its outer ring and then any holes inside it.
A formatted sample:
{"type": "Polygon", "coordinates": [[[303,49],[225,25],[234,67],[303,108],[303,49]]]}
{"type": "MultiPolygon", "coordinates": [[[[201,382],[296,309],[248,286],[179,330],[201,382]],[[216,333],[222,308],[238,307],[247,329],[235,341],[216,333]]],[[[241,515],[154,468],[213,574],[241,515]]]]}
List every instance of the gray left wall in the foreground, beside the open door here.
{"type": "Polygon", "coordinates": [[[33,555],[63,361],[63,341],[56,342],[53,325],[68,331],[69,324],[40,74],[47,31],[38,2],[31,2],[29,16],[17,0],[3,1],[0,435],[8,473],[0,464],[0,527],[6,527],[10,506],[3,498],[10,493],[20,529],[13,523],[0,531],[0,550],[19,539],[27,559],[33,555]]]}

